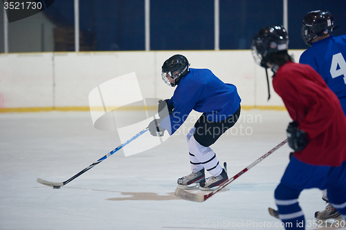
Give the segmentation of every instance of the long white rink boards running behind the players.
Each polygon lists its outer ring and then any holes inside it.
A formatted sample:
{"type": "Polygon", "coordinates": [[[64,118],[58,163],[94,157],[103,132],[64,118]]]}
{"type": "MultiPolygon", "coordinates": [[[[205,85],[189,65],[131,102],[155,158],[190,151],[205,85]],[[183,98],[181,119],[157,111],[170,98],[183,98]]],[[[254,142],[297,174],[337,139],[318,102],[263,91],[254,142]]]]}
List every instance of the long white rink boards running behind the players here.
{"type": "MultiPolygon", "coordinates": [[[[298,60],[302,51],[290,53],[298,60]]],[[[209,68],[235,84],[242,105],[283,106],[272,86],[267,101],[265,70],[255,64],[251,50],[174,50],[0,55],[0,108],[87,107],[93,88],[133,72],[144,98],[169,98],[174,88],[163,83],[161,66],[177,53],[188,58],[191,68],[209,68]]],[[[270,70],[268,74],[273,75],[270,70]]]]}

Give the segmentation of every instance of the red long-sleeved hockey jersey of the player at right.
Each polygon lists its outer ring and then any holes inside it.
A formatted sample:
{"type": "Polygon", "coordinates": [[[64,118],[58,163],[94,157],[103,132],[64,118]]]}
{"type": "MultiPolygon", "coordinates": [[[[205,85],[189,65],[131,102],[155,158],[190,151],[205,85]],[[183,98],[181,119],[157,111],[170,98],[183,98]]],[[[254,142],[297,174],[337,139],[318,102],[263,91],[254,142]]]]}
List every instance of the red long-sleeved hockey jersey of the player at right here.
{"type": "Polygon", "coordinates": [[[309,65],[289,61],[277,70],[273,87],[298,128],[309,135],[307,147],[293,155],[313,165],[340,166],[345,162],[346,117],[322,77],[309,65]]]}

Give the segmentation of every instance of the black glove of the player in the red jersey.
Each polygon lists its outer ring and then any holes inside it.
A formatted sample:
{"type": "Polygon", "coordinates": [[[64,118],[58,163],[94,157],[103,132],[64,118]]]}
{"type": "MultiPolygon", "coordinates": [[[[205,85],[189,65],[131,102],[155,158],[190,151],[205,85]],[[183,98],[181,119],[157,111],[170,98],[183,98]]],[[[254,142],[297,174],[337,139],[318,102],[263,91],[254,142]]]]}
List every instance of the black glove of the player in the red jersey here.
{"type": "Polygon", "coordinates": [[[294,151],[302,151],[309,143],[307,133],[298,128],[298,122],[291,122],[286,132],[289,146],[294,151]]]}

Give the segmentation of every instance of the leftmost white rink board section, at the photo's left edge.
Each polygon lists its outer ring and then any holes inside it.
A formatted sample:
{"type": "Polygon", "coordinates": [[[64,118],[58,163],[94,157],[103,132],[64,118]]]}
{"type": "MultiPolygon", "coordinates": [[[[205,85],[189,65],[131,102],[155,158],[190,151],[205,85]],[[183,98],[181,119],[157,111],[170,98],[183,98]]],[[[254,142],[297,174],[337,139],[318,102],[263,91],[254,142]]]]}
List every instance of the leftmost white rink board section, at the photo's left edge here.
{"type": "Polygon", "coordinates": [[[53,54],[0,55],[0,108],[53,105],[53,54]]]}

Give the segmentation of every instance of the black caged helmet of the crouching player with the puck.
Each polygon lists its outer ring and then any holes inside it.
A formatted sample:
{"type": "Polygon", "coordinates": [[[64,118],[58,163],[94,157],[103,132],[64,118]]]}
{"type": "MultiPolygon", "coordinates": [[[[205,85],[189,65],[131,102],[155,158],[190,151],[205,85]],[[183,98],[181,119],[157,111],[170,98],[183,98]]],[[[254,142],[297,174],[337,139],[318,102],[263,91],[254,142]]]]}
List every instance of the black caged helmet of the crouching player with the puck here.
{"type": "Polygon", "coordinates": [[[176,86],[179,84],[181,77],[190,73],[189,66],[190,64],[186,57],[183,55],[173,55],[163,62],[161,75],[163,82],[168,86],[176,86]],[[170,79],[168,79],[167,76],[173,79],[174,83],[170,82],[170,79]]]}

